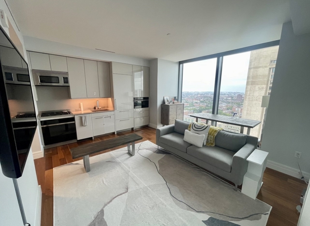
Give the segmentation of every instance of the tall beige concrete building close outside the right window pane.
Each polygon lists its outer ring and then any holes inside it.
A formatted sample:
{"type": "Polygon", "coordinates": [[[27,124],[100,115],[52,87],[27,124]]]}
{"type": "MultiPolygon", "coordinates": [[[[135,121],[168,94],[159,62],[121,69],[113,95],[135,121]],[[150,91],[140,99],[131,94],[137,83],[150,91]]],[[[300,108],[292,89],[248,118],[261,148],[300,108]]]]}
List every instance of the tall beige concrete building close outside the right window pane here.
{"type": "MultiPolygon", "coordinates": [[[[263,122],[262,97],[270,95],[278,49],[274,46],[251,51],[242,118],[263,122]]],[[[261,131],[262,123],[251,129],[250,135],[260,138],[261,131]]]]}

